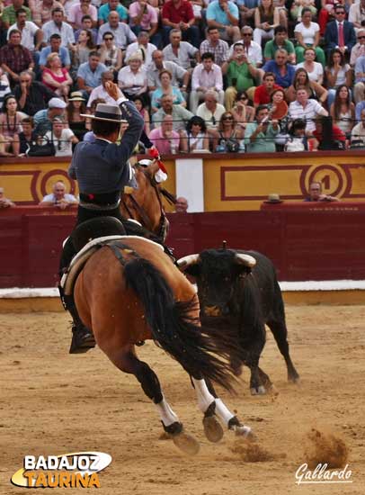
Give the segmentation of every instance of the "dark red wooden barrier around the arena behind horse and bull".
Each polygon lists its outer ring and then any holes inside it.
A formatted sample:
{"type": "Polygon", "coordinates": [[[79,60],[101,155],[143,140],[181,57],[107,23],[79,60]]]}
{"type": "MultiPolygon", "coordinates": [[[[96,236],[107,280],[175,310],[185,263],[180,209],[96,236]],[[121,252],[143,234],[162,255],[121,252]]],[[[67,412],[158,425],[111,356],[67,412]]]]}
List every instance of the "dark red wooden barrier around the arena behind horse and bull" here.
{"type": "MultiPolygon", "coordinates": [[[[171,214],[169,246],[176,257],[207,247],[261,251],[280,280],[365,279],[365,210],[357,203],[319,211],[275,206],[264,211],[171,214]]],[[[39,207],[0,211],[0,287],[57,284],[62,241],[75,211],[39,207]]]]}

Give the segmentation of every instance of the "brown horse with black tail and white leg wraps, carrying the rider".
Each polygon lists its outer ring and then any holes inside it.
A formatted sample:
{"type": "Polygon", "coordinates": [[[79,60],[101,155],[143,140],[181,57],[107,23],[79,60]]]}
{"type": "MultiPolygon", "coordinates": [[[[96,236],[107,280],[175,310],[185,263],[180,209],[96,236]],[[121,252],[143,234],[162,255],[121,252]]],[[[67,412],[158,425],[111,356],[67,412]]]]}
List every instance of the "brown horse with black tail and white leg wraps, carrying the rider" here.
{"type": "MultiPolygon", "coordinates": [[[[151,211],[156,211],[157,205],[162,211],[158,191],[147,192],[151,186],[156,188],[151,180],[154,171],[155,166],[146,170],[137,167],[136,174],[136,198],[143,198],[139,206],[149,219],[152,215],[147,210],[148,199],[155,198],[151,211]]],[[[137,215],[138,208],[135,211],[137,215]]],[[[157,229],[161,219],[153,223],[157,229]]],[[[121,372],[137,378],[143,392],[156,405],[166,434],[182,452],[195,455],[199,443],[185,431],[166,401],[156,373],[138,359],[136,346],[147,339],[153,339],[190,375],[203,413],[204,433],[210,442],[223,437],[221,423],[236,435],[252,436],[251,428],[228,410],[214,390],[213,382],[233,390],[228,353],[217,348],[201,327],[196,290],[163,247],[137,236],[102,245],[78,275],[74,296],[78,314],[93,331],[102,352],[121,372]]],[[[235,347],[236,342],[232,343],[235,347]]]]}

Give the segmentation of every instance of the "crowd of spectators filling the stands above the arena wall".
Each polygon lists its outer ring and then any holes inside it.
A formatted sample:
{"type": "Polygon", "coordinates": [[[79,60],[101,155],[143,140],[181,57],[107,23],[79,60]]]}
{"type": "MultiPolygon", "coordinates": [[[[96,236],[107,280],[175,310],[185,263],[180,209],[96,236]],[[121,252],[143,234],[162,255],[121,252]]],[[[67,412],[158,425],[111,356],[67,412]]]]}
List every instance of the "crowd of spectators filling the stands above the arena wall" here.
{"type": "Polygon", "coordinates": [[[365,147],[365,0],[0,0],[0,14],[0,156],[71,156],[93,139],[85,115],[113,103],[108,80],[146,122],[142,152],[365,147]]]}

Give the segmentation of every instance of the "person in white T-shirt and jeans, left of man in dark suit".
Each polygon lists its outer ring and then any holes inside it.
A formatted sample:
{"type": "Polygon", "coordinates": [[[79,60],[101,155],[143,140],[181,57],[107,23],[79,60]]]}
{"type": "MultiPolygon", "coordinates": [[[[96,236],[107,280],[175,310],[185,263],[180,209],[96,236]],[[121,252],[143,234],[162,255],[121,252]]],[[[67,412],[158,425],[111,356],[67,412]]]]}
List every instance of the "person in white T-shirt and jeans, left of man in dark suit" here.
{"type": "Polygon", "coordinates": [[[319,43],[319,25],[312,23],[312,12],[310,8],[303,9],[302,22],[295,26],[294,34],[298,42],[295,52],[297,54],[297,63],[304,61],[304,52],[307,48],[314,49],[316,60],[325,67],[325,52],[319,43]]]}

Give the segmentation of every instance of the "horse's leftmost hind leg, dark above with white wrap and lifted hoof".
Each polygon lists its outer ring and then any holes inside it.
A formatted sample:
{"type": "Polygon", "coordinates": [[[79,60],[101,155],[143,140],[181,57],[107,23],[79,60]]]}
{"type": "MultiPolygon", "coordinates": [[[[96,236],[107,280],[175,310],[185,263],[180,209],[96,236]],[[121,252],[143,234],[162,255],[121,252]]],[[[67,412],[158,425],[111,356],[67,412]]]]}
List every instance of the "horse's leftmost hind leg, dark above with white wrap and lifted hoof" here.
{"type": "Polygon", "coordinates": [[[143,392],[156,405],[165,432],[173,437],[174,444],[186,454],[197,454],[199,451],[198,442],[183,431],[182,423],[168,402],[165,401],[156,373],[147,363],[140,361],[132,350],[123,353],[118,358],[111,358],[111,361],[121,371],[136,376],[143,392]]]}

